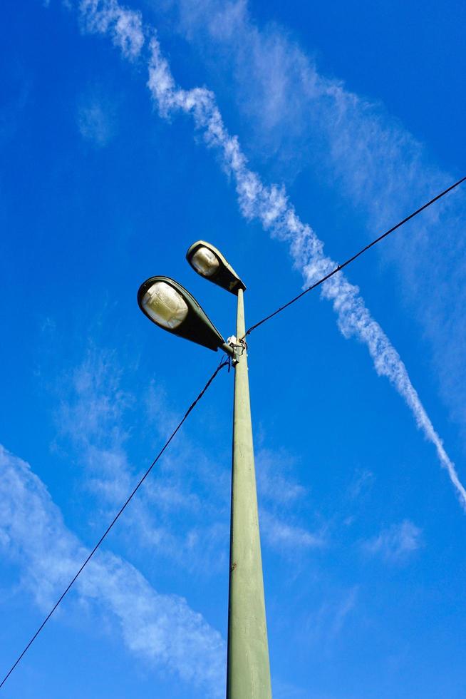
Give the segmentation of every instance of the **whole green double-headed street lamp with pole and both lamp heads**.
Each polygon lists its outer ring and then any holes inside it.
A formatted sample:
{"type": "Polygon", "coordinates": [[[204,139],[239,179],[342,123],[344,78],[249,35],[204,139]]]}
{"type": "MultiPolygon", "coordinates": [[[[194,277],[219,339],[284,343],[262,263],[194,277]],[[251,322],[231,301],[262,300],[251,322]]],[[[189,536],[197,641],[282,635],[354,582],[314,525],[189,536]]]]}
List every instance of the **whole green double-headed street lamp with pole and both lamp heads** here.
{"type": "Polygon", "coordinates": [[[247,351],[242,340],[246,287],[222,253],[204,240],[191,245],[186,258],[199,275],[237,296],[236,337],[225,342],[190,292],[169,277],[145,281],[138,303],[164,330],[233,357],[227,699],[271,699],[247,351]]]}

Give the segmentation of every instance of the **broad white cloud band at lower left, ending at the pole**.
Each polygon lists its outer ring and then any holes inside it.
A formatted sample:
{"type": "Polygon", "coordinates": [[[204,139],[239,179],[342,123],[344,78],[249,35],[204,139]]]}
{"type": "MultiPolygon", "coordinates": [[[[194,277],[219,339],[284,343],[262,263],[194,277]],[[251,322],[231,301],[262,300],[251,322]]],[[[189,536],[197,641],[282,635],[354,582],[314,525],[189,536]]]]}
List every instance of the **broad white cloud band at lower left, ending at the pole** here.
{"type": "MultiPolygon", "coordinates": [[[[66,528],[29,464],[1,446],[0,473],[0,549],[19,566],[21,584],[41,611],[49,611],[88,551],[66,528]]],[[[138,658],[202,693],[222,695],[224,641],[184,598],[157,593],[130,563],[104,550],[88,563],[70,596],[78,596],[89,613],[108,616],[138,658]]]]}

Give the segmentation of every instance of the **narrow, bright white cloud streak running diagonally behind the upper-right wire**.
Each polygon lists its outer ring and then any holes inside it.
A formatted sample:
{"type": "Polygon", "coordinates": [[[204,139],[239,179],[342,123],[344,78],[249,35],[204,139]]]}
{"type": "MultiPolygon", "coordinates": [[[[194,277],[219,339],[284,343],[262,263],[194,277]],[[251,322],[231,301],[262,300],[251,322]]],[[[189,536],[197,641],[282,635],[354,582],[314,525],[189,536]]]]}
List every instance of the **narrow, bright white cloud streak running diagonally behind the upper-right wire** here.
{"type": "MultiPolygon", "coordinates": [[[[99,5],[97,0],[83,0],[81,11],[85,17],[90,13],[92,31],[100,31],[103,34],[110,31],[113,41],[120,46],[124,56],[135,58],[140,53],[143,40],[140,39],[139,33],[143,30],[139,13],[120,8],[115,0],[107,0],[99,5]],[[97,6],[102,9],[98,10],[97,6]],[[125,16],[125,21],[120,22],[118,19],[120,16],[125,16]],[[119,26],[123,26],[123,31],[119,31],[119,26]],[[128,27],[138,28],[137,39],[130,44],[130,50],[128,50],[130,34],[126,31],[128,27]]],[[[311,285],[336,267],[336,262],[324,255],[323,243],[314,230],[302,223],[296,215],[284,188],[264,185],[259,175],[248,168],[247,158],[239,146],[238,139],[230,136],[224,126],[214,94],[207,88],[192,88],[189,91],[179,88],[167,60],[162,56],[160,44],[155,36],[150,39],[149,48],[147,86],[157,104],[160,116],[167,117],[177,111],[192,116],[196,128],[204,134],[207,146],[219,151],[224,169],[234,179],[239,208],[244,218],[259,220],[264,230],[268,231],[273,238],[289,243],[294,266],[301,271],[305,285],[311,285]]],[[[351,285],[343,274],[339,274],[323,285],[321,295],[332,302],[338,318],[338,327],[343,336],[355,337],[368,347],[377,374],[387,377],[403,397],[419,429],[434,445],[440,464],[447,469],[460,503],[466,509],[466,490],[460,482],[455,465],[435,432],[418,393],[410,382],[400,355],[391,345],[378,322],[371,317],[359,295],[358,287],[351,285]]]]}

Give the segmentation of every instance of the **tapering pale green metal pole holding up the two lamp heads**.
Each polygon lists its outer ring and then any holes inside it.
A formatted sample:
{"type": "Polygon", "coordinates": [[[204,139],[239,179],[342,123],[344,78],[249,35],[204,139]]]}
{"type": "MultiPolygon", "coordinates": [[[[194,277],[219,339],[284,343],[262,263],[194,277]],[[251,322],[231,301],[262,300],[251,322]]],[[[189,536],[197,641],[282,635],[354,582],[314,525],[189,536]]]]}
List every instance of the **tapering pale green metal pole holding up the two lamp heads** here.
{"type": "MultiPolygon", "coordinates": [[[[244,332],[240,289],[237,337],[244,332]]],[[[234,374],[229,564],[227,699],[271,699],[246,350],[240,350],[234,374]]]]}

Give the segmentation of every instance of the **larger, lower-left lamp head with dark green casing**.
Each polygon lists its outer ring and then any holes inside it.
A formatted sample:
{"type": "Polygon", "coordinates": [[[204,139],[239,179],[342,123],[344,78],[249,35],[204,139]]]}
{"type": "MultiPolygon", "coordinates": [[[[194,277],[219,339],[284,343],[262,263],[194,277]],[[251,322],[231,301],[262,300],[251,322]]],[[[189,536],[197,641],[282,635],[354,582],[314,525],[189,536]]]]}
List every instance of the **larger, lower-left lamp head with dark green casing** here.
{"type": "Polygon", "coordinates": [[[138,304],[163,330],[217,352],[225,341],[189,291],[170,277],[150,277],[140,285],[138,304]]]}

